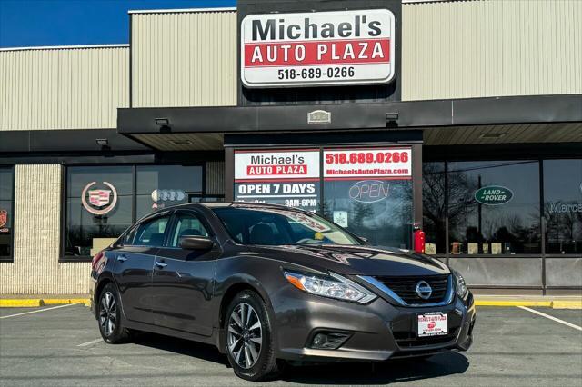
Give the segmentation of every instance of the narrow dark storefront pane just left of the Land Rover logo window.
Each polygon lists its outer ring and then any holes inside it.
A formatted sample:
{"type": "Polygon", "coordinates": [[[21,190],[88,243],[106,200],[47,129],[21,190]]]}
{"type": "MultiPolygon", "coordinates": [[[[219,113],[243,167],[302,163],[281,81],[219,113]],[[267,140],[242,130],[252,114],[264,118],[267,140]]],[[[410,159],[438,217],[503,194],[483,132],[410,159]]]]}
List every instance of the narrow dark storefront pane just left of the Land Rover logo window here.
{"type": "Polygon", "coordinates": [[[424,163],[422,171],[423,230],[426,253],[446,253],[447,207],[445,163],[424,163]]]}

